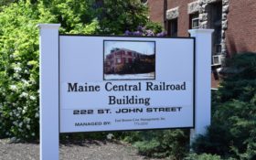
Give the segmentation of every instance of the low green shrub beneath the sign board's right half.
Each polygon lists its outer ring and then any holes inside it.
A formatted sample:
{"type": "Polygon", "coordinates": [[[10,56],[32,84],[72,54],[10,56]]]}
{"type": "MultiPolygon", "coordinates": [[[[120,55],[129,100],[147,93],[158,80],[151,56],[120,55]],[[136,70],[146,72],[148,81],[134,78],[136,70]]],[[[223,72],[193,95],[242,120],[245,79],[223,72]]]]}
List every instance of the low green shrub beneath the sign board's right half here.
{"type": "Polygon", "coordinates": [[[189,132],[163,130],[125,133],[124,141],[133,144],[142,155],[181,159],[188,150],[189,132]]]}

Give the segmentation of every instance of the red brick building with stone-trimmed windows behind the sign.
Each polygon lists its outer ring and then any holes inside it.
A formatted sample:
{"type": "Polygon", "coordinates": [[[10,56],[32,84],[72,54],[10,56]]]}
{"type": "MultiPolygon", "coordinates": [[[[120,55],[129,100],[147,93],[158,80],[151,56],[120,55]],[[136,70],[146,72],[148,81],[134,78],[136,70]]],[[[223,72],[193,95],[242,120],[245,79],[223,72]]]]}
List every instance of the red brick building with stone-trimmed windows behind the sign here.
{"type": "Polygon", "coordinates": [[[212,28],[212,80],[223,59],[256,52],[255,0],[147,0],[150,19],[165,27],[168,36],[188,37],[188,29],[212,28]]]}

